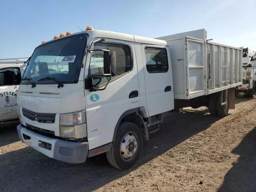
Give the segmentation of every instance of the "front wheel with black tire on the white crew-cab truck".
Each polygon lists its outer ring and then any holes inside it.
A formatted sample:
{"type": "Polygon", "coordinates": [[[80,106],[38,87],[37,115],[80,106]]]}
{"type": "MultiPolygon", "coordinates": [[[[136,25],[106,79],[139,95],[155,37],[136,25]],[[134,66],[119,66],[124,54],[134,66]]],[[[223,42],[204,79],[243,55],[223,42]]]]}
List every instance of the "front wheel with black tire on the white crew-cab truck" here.
{"type": "Polygon", "coordinates": [[[138,125],[123,122],[118,127],[116,139],[110,151],[106,152],[108,162],[115,168],[131,168],[142,152],[143,134],[138,125]]]}

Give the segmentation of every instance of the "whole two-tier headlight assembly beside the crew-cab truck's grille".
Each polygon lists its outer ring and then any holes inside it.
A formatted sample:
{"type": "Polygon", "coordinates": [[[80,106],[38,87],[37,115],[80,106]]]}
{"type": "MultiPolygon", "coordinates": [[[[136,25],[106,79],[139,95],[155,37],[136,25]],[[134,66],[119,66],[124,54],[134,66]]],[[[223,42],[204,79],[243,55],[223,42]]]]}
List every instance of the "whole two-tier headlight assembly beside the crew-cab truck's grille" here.
{"type": "Polygon", "coordinates": [[[63,138],[84,138],[86,132],[85,110],[60,114],[60,137],[63,138]]]}

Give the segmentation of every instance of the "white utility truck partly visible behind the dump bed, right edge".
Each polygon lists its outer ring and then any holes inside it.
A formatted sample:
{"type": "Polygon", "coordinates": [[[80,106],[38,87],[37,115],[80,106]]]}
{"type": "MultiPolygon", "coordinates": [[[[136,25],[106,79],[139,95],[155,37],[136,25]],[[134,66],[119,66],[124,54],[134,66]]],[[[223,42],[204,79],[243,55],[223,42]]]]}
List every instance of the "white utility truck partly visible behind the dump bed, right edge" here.
{"type": "Polygon", "coordinates": [[[254,97],[256,91],[256,52],[243,48],[242,85],[238,86],[236,96],[254,97]]]}

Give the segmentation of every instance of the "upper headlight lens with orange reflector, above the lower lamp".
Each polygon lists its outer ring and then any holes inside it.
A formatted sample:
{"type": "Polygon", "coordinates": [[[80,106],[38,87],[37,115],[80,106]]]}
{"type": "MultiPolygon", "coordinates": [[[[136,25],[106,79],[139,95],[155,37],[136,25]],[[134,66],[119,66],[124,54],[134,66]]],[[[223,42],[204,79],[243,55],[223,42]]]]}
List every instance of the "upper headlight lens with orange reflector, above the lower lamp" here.
{"type": "Polygon", "coordinates": [[[60,126],[62,125],[79,125],[86,123],[85,111],[60,114],[60,126]]]}

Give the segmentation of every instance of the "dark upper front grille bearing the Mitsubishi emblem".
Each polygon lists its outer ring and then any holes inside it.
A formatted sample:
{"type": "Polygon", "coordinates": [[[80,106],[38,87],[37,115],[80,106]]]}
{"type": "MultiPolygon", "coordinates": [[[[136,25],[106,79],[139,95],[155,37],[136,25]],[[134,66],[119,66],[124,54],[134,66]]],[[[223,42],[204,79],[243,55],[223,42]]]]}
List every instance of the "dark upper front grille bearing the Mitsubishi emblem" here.
{"type": "Polygon", "coordinates": [[[22,113],[24,117],[40,123],[54,123],[56,114],[52,113],[36,113],[27,109],[22,108],[22,113]]]}

